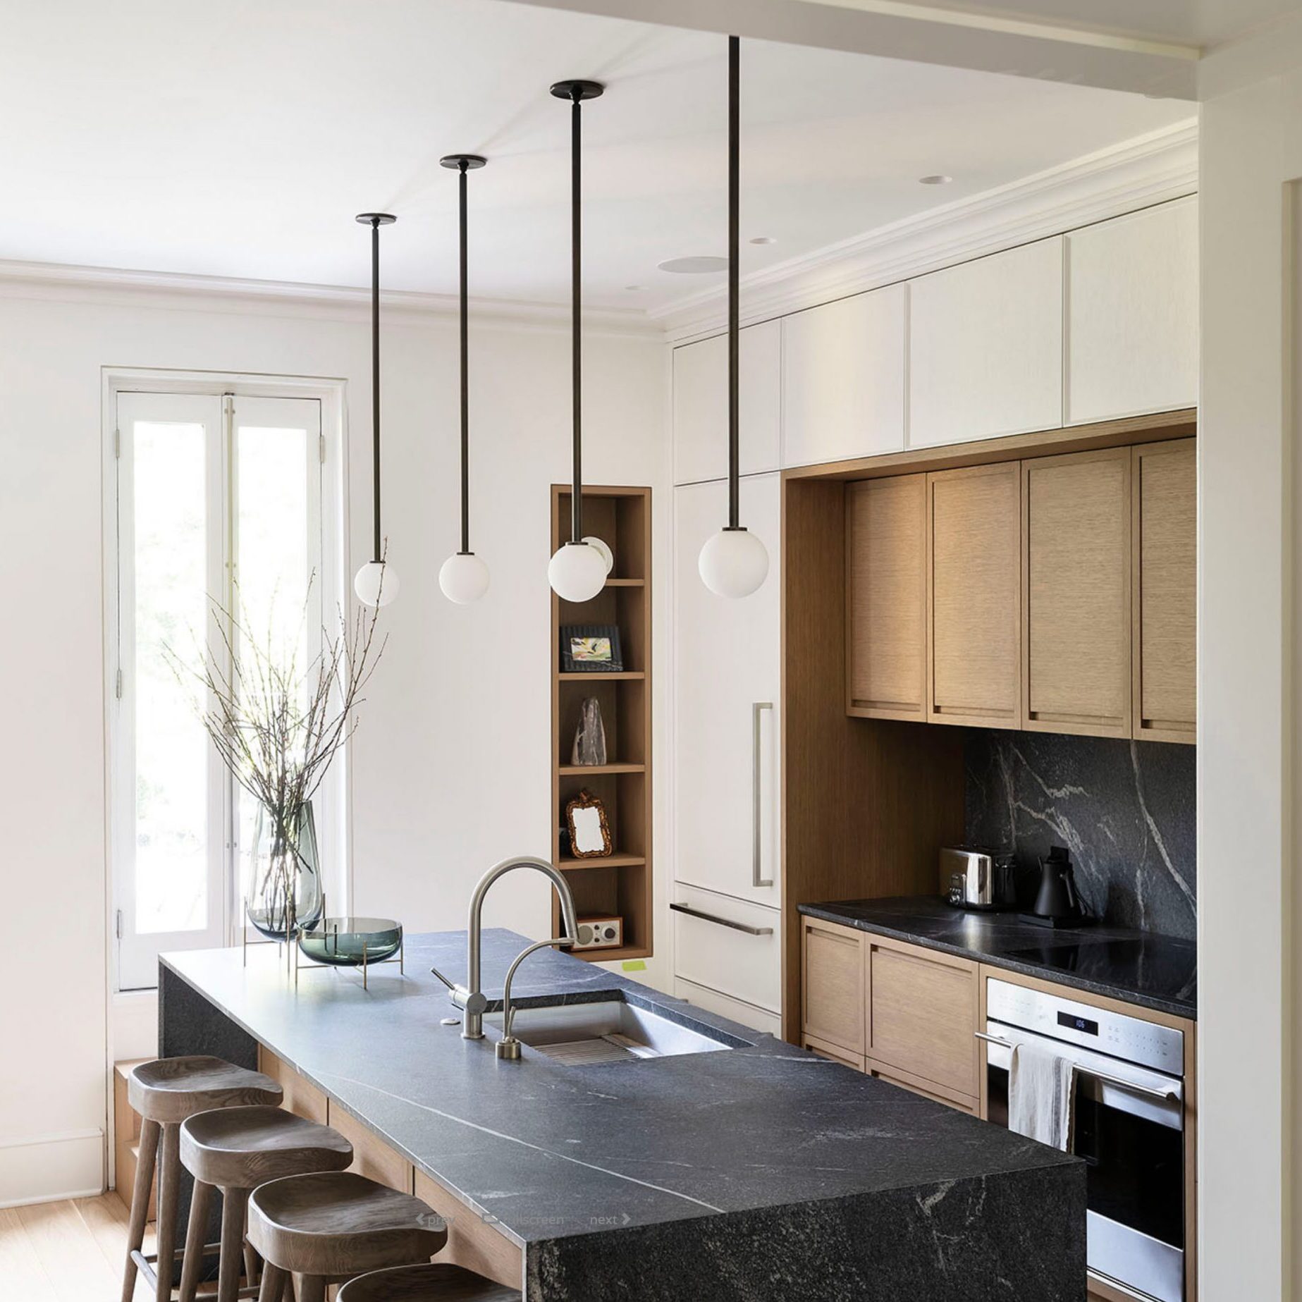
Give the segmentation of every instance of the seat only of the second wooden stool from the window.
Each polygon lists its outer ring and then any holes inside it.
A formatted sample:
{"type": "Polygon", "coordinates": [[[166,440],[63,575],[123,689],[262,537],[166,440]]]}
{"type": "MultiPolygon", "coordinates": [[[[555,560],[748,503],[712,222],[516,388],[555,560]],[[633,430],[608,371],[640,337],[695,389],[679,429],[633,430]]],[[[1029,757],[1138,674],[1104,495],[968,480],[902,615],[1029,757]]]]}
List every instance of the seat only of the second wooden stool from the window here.
{"type": "Polygon", "coordinates": [[[219,1189],[256,1189],[352,1161],[353,1146],[337,1130],[268,1104],[199,1112],[181,1125],[181,1164],[219,1189]]]}

